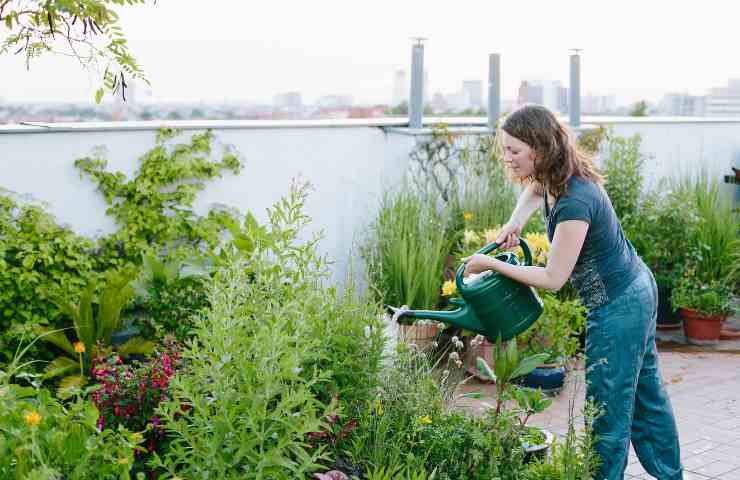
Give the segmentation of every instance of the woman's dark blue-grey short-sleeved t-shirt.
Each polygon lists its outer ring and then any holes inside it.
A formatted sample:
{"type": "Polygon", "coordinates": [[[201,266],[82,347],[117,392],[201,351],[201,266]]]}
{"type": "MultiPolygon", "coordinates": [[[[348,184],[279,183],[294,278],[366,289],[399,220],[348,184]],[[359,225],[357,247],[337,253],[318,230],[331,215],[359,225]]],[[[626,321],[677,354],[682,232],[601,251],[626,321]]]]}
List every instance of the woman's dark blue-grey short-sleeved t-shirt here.
{"type": "Polygon", "coordinates": [[[555,226],[567,220],[589,224],[570,281],[587,308],[595,308],[622,293],[640,271],[642,261],[624,236],[604,188],[585,178],[572,176],[566,192],[550,211],[545,196],[545,225],[552,242],[555,226]]]}

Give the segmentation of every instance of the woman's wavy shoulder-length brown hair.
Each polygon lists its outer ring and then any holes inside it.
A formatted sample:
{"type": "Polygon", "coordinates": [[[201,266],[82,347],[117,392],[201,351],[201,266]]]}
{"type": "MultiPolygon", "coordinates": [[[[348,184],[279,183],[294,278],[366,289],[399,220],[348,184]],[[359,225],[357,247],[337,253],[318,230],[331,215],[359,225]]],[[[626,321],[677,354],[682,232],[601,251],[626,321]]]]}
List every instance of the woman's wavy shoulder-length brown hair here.
{"type": "MultiPolygon", "coordinates": [[[[578,147],[574,135],[547,108],[524,105],[504,119],[500,130],[534,150],[534,174],[524,181],[537,182],[556,198],[565,194],[573,175],[603,183],[593,158],[578,147]]],[[[498,137],[499,158],[503,159],[502,135],[498,137]]]]}

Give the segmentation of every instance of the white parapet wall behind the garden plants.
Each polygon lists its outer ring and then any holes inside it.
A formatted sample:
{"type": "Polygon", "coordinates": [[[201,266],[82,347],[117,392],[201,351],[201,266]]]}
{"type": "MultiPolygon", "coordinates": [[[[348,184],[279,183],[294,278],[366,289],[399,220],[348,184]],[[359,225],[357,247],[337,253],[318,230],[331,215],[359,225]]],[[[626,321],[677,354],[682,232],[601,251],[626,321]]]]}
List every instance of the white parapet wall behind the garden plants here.
{"type": "MultiPolygon", "coordinates": [[[[429,119],[434,123],[440,119],[429,119]]],[[[480,134],[485,119],[446,119],[480,134]]],[[[611,125],[621,136],[639,133],[648,157],[649,183],[678,173],[712,176],[740,166],[740,119],[629,119],[586,117],[611,125]]],[[[181,141],[211,128],[216,144],[230,144],[245,167],[210,182],[196,210],[228,205],[266,219],[266,209],[285,195],[294,179],[313,191],[306,213],[313,223],[306,238],[323,232],[320,249],[335,261],[333,279],[342,283],[350,265],[362,271],[358,245],[373,219],[384,188],[398,184],[420,131],[403,120],[319,122],[167,122],[185,130],[181,141]]],[[[97,146],[107,150],[108,168],[129,177],[138,158],[154,146],[158,122],[0,126],[0,187],[47,205],[62,224],[96,237],[115,229],[95,185],[74,167],[97,146]]],[[[218,149],[215,150],[218,152],[218,149]]]]}

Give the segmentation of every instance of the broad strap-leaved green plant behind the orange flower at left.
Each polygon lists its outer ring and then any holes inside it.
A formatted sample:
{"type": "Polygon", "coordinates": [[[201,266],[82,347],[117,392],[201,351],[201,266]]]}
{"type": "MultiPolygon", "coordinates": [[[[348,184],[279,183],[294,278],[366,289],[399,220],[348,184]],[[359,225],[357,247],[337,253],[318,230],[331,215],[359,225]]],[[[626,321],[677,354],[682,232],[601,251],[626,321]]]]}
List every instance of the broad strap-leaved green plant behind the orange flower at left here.
{"type": "MultiPolygon", "coordinates": [[[[58,306],[72,319],[75,336],[78,340],[69,341],[62,331],[51,331],[40,327],[37,333],[41,338],[62,349],[62,355],[49,363],[44,378],[66,375],[59,383],[60,394],[66,395],[71,389],[87,383],[87,372],[92,358],[102,354],[110,345],[111,335],[118,328],[121,310],[133,298],[131,281],[138,272],[135,269],[113,271],[106,275],[105,286],[99,297],[97,308],[93,307],[96,283],[89,282],[78,303],[57,298],[58,306]],[[72,374],[70,374],[72,372],[72,374]]],[[[153,344],[141,338],[132,338],[118,348],[121,355],[146,353],[153,344]]]]}

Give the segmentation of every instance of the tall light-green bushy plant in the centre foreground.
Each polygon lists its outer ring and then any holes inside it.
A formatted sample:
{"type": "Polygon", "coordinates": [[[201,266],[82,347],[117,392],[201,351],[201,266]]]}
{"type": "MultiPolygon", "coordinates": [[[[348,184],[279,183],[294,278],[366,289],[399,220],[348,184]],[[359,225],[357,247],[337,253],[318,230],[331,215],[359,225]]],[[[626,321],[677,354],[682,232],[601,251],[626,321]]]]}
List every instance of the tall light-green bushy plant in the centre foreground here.
{"type": "Polygon", "coordinates": [[[348,375],[363,359],[376,365],[359,369],[353,381],[373,385],[380,344],[364,329],[378,330],[377,311],[368,318],[369,311],[338,301],[323,287],[326,268],[316,254],[317,239],[297,242],[308,222],[302,213],[306,191],[294,186],[268,211],[267,226],[246,222],[241,229],[245,237],[265,241],[225,248],[209,286],[210,310],[196,321],[183,351],[183,373],[173,378],[172,400],[162,408],[172,441],[156,462],[171,475],[303,478],[326,457],[306,441],[328,428],[325,419],[337,407],[322,397],[335,388],[340,402],[345,393],[359,396],[362,387],[348,385],[348,375]],[[351,315],[369,324],[355,319],[341,332],[351,315]],[[345,354],[346,365],[322,370],[345,354]],[[190,407],[187,413],[182,404],[190,407]]]}

